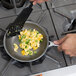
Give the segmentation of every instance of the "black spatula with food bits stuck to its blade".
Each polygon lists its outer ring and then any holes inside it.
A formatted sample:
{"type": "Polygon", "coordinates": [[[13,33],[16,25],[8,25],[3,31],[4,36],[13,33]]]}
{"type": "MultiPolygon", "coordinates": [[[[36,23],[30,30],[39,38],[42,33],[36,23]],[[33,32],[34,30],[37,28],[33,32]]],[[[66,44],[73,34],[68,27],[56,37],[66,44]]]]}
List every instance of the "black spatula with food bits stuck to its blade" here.
{"type": "Polygon", "coordinates": [[[32,6],[33,2],[30,2],[30,6],[23,9],[23,11],[16,18],[16,20],[6,28],[8,30],[9,36],[15,36],[19,34],[24,23],[26,22],[26,20],[28,19],[29,15],[33,10],[32,6]]]}

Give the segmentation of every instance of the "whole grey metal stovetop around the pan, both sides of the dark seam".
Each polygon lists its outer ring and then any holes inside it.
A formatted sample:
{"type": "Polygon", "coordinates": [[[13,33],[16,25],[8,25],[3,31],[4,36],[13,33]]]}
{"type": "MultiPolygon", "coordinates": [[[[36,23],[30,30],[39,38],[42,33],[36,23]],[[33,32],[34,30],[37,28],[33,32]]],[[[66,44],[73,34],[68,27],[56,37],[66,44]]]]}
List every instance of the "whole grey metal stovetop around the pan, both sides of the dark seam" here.
{"type": "MultiPolygon", "coordinates": [[[[57,0],[52,0],[33,6],[33,11],[27,19],[27,21],[38,23],[41,27],[43,27],[51,41],[61,38],[61,34],[69,31],[68,29],[73,30],[72,24],[75,22],[76,5],[74,4],[76,1],[56,1],[57,0]],[[64,4],[62,4],[63,2],[64,4]]],[[[2,45],[3,36],[5,34],[6,27],[10,23],[13,23],[17,16],[18,15],[0,19],[0,28],[4,30],[3,31],[1,29],[0,31],[1,76],[30,76],[76,63],[75,58],[70,58],[63,52],[58,52],[57,47],[50,47],[43,57],[31,63],[21,63],[8,56],[2,45]]]]}

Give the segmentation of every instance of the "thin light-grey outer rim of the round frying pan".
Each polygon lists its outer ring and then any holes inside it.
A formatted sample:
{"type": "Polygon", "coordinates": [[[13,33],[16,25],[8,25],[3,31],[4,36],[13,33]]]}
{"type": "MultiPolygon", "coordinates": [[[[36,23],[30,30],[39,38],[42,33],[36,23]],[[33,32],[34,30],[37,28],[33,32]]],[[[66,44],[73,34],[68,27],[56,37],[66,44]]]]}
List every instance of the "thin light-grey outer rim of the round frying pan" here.
{"type": "Polygon", "coordinates": [[[49,38],[48,38],[48,35],[47,35],[47,33],[46,33],[46,31],[44,30],[43,27],[41,27],[39,24],[34,23],[34,22],[31,22],[31,21],[26,21],[26,23],[36,24],[38,27],[40,27],[40,28],[45,32],[46,37],[47,37],[47,47],[46,47],[46,49],[44,50],[44,53],[43,53],[41,56],[39,56],[38,58],[36,58],[36,59],[28,60],[28,61],[16,59],[15,57],[13,57],[13,56],[8,52],[8,50],[7,50],[7,48],[6,48],[6,45],[5,45],[6,34],[7,34],[7,32],[8,32],[8,30],[7,30],[6,33],[5,33],[5,35],[4,35],[4,40],[3,40],[4,48],[5,48],[6,52],[7,52],[7,54],[8,54],[11,58],[13,58],[13,59],[15,59],[15,60],[17,60],[17,61],[19,61],[19,62],[33,62],[33,61],[36,61],[36,60],[40,59],[40,58],[46,53],[47,48],[48,48],[48,45],[49,45],[49,38]]]}

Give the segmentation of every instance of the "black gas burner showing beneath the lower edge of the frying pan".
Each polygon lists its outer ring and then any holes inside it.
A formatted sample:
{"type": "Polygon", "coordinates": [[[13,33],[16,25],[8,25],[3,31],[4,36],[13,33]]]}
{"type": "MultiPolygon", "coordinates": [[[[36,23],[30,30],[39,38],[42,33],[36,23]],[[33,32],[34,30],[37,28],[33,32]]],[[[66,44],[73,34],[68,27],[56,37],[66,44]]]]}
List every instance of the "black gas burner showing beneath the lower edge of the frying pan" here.
{"type": "MultiPolygon", "coordinates": [[[[1,49],[1,56],[2,56],[2,58],[7,60],[7,61],[10,61],[12,58],[9,55],[7,55],[5,49],[3,47],[0,48],[0,49],[1,49]]],[[[41,64],[44,59],[45,59],[45,56],[41,57],[40,59],[38,59],[36,61],[33,61],[32,65],[41,64]]],[[[19,62],[19,61],[16,61],[16,60],[13,60],[12,64],[17,66],[18,68],[23,68],[25,66],[30,66],[30,62],[19,62]]]]}

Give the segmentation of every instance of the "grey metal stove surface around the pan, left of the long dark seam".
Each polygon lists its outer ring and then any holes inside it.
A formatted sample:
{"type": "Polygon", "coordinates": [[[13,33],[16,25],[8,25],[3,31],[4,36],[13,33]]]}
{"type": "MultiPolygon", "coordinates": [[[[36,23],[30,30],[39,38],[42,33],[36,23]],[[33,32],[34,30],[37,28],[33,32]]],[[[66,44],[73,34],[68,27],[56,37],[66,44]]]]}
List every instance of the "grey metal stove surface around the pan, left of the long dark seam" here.
{"type": "MultiPolygon", "coordinates": [[[[14,19],[15,18],[13,18],[12,21],[10,20],[10,17],[1,19],[0,28],[7,27],[8,23],[13,22],[14,19]]],[[[40,26],[42,26],[47,31],[47,34],[51,41],[57,39],[57,33],[54,28],[49,11],[46,9],[45,3],[43,3],[41,7],[34,7],[34,11],[29,16],[28,21],[36,22],[40,26]],[[37,9],[39,10],[36,12],[37,9]]],[[[64,60],[63,54],[58,52],[57,47],[51,47],[48,49],[46,58],[41,64],[32,65],[32,63],[30,63],[30,66],[25,66],[23,68],[18,68],[13,65],[12,59],[8,61],[3,59],[0,49],[0,76],[29,76],[32,74],[58,69],[65,66],[66,62],[64,60]]]]}

